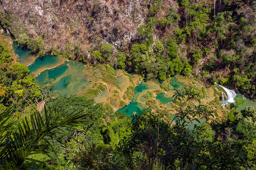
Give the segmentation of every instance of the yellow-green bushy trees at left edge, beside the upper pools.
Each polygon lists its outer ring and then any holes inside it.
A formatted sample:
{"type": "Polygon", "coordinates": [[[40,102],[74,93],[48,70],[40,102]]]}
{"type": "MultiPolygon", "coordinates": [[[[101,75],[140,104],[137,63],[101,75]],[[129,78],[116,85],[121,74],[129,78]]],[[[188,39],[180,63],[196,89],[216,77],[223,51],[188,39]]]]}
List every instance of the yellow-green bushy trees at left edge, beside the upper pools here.
{"type": "Polygon", "coordinates": [[[0,43],[0,111],[12,106],[20,113],[26,108],[36,108],[34,101],[42,96],[33,75],[28,74],[28,67],[14,63],[11,52],[9,47],[0,43]]]}

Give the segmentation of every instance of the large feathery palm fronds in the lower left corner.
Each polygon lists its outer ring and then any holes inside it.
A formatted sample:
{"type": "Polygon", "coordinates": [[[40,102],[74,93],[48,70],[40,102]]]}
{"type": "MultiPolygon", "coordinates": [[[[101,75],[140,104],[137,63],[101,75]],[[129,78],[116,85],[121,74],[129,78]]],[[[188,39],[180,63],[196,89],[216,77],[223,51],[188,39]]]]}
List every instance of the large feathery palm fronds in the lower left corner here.
{"type": "MultiPolygon", "coordinates": [[[[71,127],[83,130],[88,124],[88,114],[64,112],[53,107],[46,110],[45,114],[34,112],[23,120],[15,121],[12,109],[7,109],[0,114],[1,135],[1,166],[7,169],[26,168],[26,161],[40,162],[33,159],[35,154],[45,154],[54,162],[50,151],[55,153],[55,146],[50,141],[58,140],[55,135],[70,134],[59,131],[60,127],[71,127]]],[[[42,162],[40,162],[42,163],[42,162]]]]}

